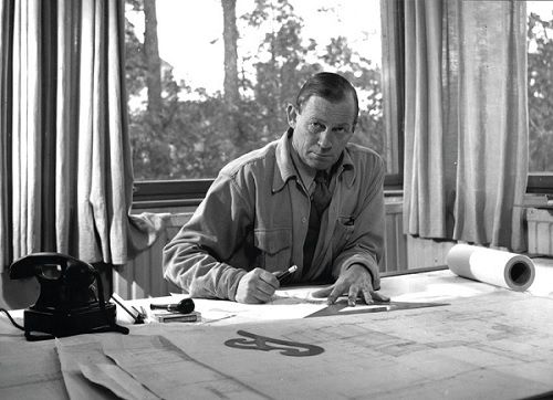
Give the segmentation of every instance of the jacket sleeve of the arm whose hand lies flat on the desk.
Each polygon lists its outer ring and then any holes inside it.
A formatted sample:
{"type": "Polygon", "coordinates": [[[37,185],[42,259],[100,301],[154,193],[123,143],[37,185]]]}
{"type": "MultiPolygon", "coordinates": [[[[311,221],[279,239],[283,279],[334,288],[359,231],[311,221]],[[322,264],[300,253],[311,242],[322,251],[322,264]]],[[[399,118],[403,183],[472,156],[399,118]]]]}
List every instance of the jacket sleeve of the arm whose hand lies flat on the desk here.
{"type": "Polygon", "coordinates": [[[384,162],[375,157],[367,175],[363,193],[361,212],[356,217],[353,234],[344,250],[334,261],[333,276],[338,277],[343,271],[353,264],[362,264],[373,276],[373,287],[380,288],[378,263],[384,253],[384,162]]]}

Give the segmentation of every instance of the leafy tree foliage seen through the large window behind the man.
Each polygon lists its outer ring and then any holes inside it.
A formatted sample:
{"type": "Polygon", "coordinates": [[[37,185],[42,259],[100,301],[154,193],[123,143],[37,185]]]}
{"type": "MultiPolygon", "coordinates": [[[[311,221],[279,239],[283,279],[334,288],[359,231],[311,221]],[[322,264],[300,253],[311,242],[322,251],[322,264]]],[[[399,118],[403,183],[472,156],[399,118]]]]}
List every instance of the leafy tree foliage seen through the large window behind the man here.
{"type": "MultiPolygon", "coordinates": [[[[127,0],[135,11],[140,11],[140,3],[127,0]]],[[[289,0],[255,0],[254,9],[240,21],[265,32],[259,52],[241,60],[252,65],[254,74],[237,76],[240,101],[228,106],[221,93],[208,96],[202,88],[177,83],[171,66],[163,63],[160,115],[148,115],[147,107],[131,113],[135,179],[215,177],[231,159],[280,137],[288,127],[286,104],[309,76],[323,70],[341,72],[358,90],[362,112],[354,141],[383,154],[380,73],[371,61],[356,54],[345,38],[333,39],[317,54],[321,45],[304,40],[303,20],[289,0]]],[[[127,90],[136,101],[144,97],[147,71],[145,52],[128,20],[126,52],[127,90]]]]}

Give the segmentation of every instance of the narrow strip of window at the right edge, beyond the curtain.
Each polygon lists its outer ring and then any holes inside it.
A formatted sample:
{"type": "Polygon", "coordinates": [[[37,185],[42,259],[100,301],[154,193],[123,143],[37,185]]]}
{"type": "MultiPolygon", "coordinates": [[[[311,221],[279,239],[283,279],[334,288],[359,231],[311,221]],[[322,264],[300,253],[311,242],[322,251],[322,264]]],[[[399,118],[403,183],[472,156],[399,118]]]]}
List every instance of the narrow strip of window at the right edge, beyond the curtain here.
{"type": "Polygon", "coordinates": [[[553,1],[528,1],[529,191],[553,191],[553,1]]]}

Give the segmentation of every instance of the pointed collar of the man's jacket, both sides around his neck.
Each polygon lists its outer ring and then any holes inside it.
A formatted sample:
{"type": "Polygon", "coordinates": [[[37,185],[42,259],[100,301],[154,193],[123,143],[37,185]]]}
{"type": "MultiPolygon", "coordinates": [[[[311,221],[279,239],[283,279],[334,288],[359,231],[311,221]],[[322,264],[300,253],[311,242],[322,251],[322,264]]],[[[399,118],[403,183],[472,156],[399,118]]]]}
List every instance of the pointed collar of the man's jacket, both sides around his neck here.
{"type": "MultiPolygon", "coordinates": [[[[284,135],[276,143],[275,158],[276,167],[273,175],[272,192],[275,193],[281,191],[286,185],[289,179],[298,179],[298,171],[292,161],[292,145],[290,138],[292,137],[293,129],[289,128],[284,135]]],[[[337,167],[336,176],[344,173],[344,179],[346,180],[347,187],[351,187],[355,180],[355,169],[352,157],[349,155],[349,149],[346,146],[343,157],[341,158],[341,165],[337,167]]]]}

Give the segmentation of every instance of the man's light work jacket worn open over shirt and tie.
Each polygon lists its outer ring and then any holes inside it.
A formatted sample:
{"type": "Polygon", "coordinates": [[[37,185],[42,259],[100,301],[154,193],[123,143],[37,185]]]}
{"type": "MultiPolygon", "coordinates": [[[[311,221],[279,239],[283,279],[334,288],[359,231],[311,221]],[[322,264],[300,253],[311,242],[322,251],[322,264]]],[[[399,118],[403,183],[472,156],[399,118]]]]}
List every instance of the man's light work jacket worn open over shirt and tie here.
{"type": "Polygon", "coordinates": [[[221,169],[191,219],[165,246],[165,278],[192,297],[233,301],[240,278],[254,267],[276,272],[295,264],[292,283],[298,283],[336,278],[358,263],[379,288],[385,234],[382,158],[371,149],[346,146],[312,267],[303,273],[310,198],[292,161],[292,134],[290,129],[221,169]]]}

